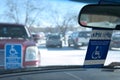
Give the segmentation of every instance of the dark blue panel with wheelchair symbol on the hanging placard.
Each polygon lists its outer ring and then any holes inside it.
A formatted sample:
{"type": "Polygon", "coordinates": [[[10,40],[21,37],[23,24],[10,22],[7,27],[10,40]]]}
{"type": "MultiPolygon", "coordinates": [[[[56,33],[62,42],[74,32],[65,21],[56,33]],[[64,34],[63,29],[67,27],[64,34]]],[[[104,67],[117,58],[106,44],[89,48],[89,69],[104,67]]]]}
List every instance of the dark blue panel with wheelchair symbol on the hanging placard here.
{"type": "Polygon", "coordinates": [[[109,49],[110,40],[90,40],[86,60],[105,59],[109,49]]]}

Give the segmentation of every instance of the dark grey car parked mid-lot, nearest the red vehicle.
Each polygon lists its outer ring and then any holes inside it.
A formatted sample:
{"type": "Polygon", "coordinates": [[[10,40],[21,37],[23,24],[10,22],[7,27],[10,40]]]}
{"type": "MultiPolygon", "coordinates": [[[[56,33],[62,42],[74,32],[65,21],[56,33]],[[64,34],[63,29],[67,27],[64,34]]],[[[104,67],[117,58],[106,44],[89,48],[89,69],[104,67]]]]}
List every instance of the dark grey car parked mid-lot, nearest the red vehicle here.
{"type": "Polygon", "coordinates": [[[62,48],[62,38],[60,35],[52,34],[46,38],[46,47],[60,47],[62,48]]]}

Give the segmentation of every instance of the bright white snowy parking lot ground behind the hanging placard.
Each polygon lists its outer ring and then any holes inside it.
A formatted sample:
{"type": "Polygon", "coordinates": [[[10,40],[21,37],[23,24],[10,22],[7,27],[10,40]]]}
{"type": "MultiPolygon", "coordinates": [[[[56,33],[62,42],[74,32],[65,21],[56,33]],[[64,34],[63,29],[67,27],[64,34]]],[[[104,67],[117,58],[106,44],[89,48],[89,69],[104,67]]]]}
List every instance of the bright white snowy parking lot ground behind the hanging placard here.
{"type": "MultiPolygon", "coordinates": [[[[41,52],[41,65],[83,65],[87,51],[87,46],[79,49],[64,45],[63,48],[49,47],[46,48],[45,41],[39,45],[41,52]]],[[[120,61],[120,50],[113,49],[108,52],[105,65],[111,62],[120,61]]]]}

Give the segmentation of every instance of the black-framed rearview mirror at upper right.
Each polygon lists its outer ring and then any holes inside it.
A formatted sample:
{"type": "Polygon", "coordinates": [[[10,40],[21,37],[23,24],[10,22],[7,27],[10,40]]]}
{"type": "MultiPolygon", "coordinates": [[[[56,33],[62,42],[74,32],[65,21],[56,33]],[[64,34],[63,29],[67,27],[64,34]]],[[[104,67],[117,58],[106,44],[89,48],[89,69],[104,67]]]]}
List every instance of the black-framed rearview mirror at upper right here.
{"type": "Polygon", "coordinates": [[[87,5],[78,17],[83,27],[120,29],[120,5],[87,5]]]}

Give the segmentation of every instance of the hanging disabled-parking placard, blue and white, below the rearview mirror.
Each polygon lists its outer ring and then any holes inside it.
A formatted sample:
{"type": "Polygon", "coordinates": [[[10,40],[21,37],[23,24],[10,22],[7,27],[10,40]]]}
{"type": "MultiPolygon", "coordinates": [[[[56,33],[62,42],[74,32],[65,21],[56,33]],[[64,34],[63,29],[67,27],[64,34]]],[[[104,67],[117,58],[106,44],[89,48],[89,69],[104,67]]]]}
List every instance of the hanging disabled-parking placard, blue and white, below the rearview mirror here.
{"type": "Polygon", "coordinates": [[[89,41],[84,67],[103,67],[113,30],[93,30],[89,41]]]}

